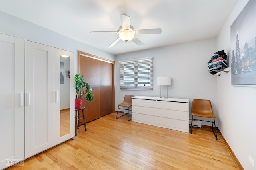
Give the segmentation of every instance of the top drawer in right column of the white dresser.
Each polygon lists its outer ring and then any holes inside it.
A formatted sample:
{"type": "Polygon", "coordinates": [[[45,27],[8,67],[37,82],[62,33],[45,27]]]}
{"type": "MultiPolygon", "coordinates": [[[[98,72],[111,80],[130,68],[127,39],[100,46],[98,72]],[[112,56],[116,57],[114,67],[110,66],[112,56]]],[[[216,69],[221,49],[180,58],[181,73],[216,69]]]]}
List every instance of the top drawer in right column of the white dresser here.
{"type": "Polygon", "coordinates": [[[156,108],[188,112],[188,103],[173,101],[156,101],[156,108]]]}

